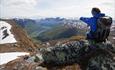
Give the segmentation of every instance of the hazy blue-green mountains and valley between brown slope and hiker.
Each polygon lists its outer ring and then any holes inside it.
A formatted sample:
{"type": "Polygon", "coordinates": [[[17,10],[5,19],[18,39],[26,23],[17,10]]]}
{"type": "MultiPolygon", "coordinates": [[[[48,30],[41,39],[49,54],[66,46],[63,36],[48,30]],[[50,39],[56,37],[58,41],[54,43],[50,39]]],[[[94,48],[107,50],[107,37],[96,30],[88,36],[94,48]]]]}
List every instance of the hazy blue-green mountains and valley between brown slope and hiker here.
{"type": "MultiPolygon", "coordinates": [[[[44,18],[44,19],[14,19],[34,39],[48,41],[67,38],[83,33],[87,30],[86,24],[76,19],[44,18]]],[[[84,35],[84,33],[83,33],[84,35]]]]}

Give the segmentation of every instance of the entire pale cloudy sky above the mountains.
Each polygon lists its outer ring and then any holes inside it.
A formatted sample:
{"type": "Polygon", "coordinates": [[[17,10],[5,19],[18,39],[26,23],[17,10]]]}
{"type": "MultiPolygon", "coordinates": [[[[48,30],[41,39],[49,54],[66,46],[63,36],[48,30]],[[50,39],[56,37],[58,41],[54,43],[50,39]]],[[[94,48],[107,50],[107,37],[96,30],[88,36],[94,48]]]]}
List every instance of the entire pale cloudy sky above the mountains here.
{"type": "Polygon", "coordinates": [[[90,17],[91,9],[115,18],[114,0],[0,0],[0,17],[90,17]]]}

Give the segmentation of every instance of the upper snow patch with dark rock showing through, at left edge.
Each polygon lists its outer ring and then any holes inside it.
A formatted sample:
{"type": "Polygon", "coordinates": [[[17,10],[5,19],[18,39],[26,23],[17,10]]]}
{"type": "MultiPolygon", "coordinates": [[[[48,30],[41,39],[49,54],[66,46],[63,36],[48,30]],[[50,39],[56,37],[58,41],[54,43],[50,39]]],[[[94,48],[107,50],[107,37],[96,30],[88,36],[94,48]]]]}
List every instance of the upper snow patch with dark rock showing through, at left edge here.
{"type": "Polygon", "coordinates": [[[14,35],[11,34],[11,28],[12,26],[9,23],[0,21],[0,44],[17,42],[14,35]]]}

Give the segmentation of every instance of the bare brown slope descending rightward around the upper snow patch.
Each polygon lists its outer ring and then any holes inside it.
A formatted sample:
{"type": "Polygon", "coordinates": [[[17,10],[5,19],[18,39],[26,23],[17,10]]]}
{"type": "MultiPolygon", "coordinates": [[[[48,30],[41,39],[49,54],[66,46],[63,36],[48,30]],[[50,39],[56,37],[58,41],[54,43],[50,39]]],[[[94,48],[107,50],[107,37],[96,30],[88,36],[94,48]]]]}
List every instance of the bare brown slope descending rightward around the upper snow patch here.
{"type": "Polygon", "coordinates": [[[0,44],[0,52],[13,52],[13,51],[32,52],[32,51],[35,51],[37,46],[27,36],[26,32],[21,27],[16,25],[15,21],[13,20],[0,20],[0,21],[6,22],[12,26],[10,31],[14,35],[14,38],[17,41],[14,43],[0,44]]]}

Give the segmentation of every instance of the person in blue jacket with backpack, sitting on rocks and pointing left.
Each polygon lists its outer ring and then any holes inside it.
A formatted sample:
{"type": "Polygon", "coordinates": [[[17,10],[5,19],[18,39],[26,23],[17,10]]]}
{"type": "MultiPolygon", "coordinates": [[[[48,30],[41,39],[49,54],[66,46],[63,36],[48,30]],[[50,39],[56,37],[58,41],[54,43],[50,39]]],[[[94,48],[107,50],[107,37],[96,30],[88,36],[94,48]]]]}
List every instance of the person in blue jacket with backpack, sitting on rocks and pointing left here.
{"type": "Polygon", "coordinates": [[[91,13],[93,17],[80,17],[81,21],[90,26],[90,32],[87,34],[86,39],[103,42],[109,36],[112,18],[105,16],[104,13],[101,13],[99,8],[92,8],[91,13]]]}

